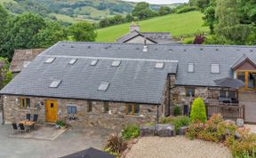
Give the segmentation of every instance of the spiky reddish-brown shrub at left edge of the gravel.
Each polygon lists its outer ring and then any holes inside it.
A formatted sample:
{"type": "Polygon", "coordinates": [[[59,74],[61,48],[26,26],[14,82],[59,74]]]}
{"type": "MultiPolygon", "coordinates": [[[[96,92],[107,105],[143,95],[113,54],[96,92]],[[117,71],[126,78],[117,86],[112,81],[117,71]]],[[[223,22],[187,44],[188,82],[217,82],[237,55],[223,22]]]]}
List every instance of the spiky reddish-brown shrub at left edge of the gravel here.
{"type": "Polygon", "coordinates": [[[104,151],[109,154],[119,155],[127,148],[127,143],[118,133],[112,134],[108,140],[104,151]]]}

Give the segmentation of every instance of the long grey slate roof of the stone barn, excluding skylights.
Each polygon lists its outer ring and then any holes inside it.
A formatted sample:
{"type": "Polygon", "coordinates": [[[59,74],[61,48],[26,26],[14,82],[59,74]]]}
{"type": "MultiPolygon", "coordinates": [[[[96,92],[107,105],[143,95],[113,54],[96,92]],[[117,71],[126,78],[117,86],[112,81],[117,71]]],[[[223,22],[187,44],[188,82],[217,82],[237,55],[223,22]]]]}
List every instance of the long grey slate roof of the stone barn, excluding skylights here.
{"type": "Polygon", "coordinates": [[[176,73],[176,85],[217,86],[214,80],[234,76],[231,67],[243,54],[256,60],[255,46],[148,44],[148,51],[143,48],[141,43],[56,43],[1,93],[159,104],[168,73],[176,73]],[[50,57],[56,59],[45,64],[50,57]],[[70,59],[78,60],[69,65],[70,59]],[[90,66],[92,59],[99,59],[96,67],[90,66]],[[122,60],[121,65],[111,67],[116,59],[122,60]],[[163,69],[155,68],[157,61],[164,61],[163,69]],[[188,73],[188,63],[194,63],[194,73],[188,73]],[[220,74],[211,73],[211,64],[220,64],[220,74]],[[62,80],[57,89],[49,88],[54,79],[62,80]],[[109,83],[107,91],[98,91],[100,82],[109,83]]]}

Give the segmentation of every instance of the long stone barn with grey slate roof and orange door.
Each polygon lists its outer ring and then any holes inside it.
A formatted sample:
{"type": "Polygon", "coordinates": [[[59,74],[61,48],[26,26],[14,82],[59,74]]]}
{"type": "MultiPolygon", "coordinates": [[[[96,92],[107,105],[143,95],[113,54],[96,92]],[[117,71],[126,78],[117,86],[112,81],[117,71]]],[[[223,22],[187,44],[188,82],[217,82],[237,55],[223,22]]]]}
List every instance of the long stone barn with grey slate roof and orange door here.
{"type": "Polygon", "coordinates": [[[224,77],[244,81],[241,91],[253,96],[255,51],[254,46],[59,42],[1,91],[4,121],[30,113],[43,123],[75,115],[84,126],[107,128],[156,122],[172,115],[174,105],[217,99],[214,80],[224,77]]]}

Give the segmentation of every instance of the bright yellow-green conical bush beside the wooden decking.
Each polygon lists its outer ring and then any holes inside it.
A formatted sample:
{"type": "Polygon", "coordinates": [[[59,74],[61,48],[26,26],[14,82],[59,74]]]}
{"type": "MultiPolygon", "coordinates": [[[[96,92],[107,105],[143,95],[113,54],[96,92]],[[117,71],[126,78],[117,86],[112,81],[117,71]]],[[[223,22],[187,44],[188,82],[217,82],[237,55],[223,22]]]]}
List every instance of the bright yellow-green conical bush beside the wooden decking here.
{"type": "Polygon", "coordinates": [[[197,98],[194,100],[190,114],[191,122],[206,122],[206,110],[204,100],[197,98]]]}

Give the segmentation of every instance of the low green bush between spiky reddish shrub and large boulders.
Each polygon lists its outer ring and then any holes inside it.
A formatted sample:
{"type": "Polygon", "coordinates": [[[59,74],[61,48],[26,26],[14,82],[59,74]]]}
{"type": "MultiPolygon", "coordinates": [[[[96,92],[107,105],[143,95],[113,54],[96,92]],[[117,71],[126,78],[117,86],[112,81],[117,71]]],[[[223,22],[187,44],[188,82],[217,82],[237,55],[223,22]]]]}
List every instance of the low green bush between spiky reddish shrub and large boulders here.
{"type": "Polygon", "coordinates": [[[121,132],[122,137],[125,140],[130,140],[131,138],[138,138],[140,136],[140,127],[137,124],[129,124],[121,132]]]}

